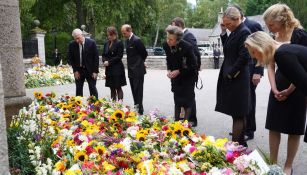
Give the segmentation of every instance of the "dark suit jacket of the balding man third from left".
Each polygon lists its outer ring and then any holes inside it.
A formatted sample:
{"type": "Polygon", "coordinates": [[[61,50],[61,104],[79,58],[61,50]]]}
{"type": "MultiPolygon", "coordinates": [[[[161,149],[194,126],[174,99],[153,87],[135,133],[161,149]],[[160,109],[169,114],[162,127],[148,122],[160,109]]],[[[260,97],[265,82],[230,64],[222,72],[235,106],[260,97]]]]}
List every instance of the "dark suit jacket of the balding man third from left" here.
{"type": "Polygon", "coordinates": [[[146,74],[144,62],[148,55],[144,44],[141,39],[136,35],[127,39],[127,65],[128,65],[128,77],[142,77],[146,74]]]}

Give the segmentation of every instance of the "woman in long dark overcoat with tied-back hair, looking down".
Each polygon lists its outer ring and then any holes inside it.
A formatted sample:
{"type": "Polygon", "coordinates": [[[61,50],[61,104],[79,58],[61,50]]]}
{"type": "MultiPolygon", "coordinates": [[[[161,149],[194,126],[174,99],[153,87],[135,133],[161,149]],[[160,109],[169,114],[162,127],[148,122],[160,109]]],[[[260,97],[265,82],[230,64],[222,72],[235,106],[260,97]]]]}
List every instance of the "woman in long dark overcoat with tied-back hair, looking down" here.
{"type": "Polygon", "coordinates": [[[215,110],[232,116],[232,140],[247,146],[244,141],[245,117],[250,110],[250,77],[248,64],[251,58],[244,41],[250,34],[235,7],[228,7],[221,24],[224,62],[217,83],[215,110]],[[227,36],[226,28],[231,32],[227,36]]]}

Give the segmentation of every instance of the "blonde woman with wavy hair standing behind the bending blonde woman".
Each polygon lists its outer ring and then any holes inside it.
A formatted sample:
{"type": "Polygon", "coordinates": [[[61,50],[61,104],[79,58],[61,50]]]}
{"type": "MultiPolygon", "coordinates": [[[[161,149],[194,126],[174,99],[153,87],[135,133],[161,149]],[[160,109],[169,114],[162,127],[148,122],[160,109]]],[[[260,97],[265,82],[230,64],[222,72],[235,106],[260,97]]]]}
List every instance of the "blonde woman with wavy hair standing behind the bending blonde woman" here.
{"type": "MultiPolygon", "coordinates": [[[[307,46],[307,34],[300,22],[285,4],[275,4],[263,14],[269,30],[276,41],[307,46]]],[[[300,135],[304,134],[306,103],[302,92],[297,90],[280,71],[275,71],[275,62],[268,65],[271,92],[267,110],[266,128],[269,129],[270,158],[277,162],[281,133],[288,134],[289,150],[285,162],[285,172],[289,174],[298,149],[300,135]],[[277,95],[281,94],[281,95],[277,95]],[[295,117],[295,120],[293,120],[295,117]]]]}

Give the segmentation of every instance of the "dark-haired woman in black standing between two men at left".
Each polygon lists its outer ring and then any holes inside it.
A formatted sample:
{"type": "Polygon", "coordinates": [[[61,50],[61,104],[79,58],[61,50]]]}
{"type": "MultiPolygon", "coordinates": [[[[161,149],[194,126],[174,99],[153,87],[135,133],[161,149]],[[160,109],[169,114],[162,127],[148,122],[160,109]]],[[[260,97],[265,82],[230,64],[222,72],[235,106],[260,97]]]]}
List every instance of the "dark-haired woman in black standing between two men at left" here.
{"type": "Polygon", "coordinates": [[[111,89],[111,99],[122,101],[124,93],[122,86],[127,85],[125,77],[125,67],[122,62],[124,45],[117,39],[115,27],[107,28],[108,41],[104,44],[102,61],[106,67],[106,87],[111,89]]]}

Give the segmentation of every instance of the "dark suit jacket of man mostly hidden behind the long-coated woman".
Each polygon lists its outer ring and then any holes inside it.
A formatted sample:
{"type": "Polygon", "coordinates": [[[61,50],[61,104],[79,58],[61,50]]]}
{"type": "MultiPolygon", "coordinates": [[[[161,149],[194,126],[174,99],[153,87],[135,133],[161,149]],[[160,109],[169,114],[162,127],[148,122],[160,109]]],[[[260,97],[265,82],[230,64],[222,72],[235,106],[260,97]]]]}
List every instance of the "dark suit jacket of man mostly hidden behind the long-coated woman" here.
{"type": "MultiPolygon", "coordinates": [[[[251,33],[263,31],[261,25],[258,22],[250,20],[248,18],[245,18],[244,24],[251,31],[251,33]]],[[[252,61],[252,64],[254,64],[254,68],[250,70],[250,73],[263,75],[263,66],[256,66],[257,61],[255,59],[252,59],[252,61]]]]}

